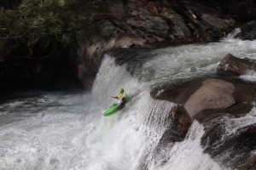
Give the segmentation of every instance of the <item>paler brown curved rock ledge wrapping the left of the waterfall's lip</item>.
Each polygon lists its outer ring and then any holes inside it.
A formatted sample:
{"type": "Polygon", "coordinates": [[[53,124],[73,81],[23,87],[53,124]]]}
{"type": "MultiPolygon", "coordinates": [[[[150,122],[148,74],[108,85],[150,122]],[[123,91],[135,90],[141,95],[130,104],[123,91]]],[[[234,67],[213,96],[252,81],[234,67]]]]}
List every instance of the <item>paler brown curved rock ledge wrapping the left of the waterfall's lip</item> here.
{"type": "Polygon", "coordinates": [[[96,37],[94,42],[79,49],[79,78],[84,87],[90,89],[96,73],[102,64],[104,54],[115,48],[147,47],[145,39],[131,33],[119,34],[118,37],[106,41],[96,37]],[[88,82],[89,81],[89,82],[88,82]]]}

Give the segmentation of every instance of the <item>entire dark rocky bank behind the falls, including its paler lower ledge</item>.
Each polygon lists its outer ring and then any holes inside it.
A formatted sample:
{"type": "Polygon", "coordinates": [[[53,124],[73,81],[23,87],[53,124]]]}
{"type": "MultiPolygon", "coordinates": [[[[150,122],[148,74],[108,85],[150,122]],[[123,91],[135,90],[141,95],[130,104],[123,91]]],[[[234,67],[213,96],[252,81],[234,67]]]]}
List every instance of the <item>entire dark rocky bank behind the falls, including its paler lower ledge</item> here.
{"type": "MultiPolygon", "coordinates": [[[[221,3],[190,1],[129,0],[116,3],[109,14],[97,17],[93,24],[102,27],[108,38],[95,37],[79,50],[80,63],[96,75],[103,54],[113,48],[155,48],[192,42],[217,41],[236,25],[231,15],[218,10],[221,3]]],[[[85,72],[84,72],[85,71],[85,72]]],[[[90,78],[89,78],[90,79],[90,78]]],[[[90,84],[87,78],[84,84],[90,84]]]]}

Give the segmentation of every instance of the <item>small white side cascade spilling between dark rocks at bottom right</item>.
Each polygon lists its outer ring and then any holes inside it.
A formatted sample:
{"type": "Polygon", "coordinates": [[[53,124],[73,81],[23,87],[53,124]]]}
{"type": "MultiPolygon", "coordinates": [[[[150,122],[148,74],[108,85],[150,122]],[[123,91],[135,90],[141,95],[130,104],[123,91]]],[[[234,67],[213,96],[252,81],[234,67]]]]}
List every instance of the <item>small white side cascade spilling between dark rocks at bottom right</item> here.
{"type": "MultiPolygon", "coordinates": [[[[166,165],[153,165],[154,170],[169,170],[169,169],[228,169],[218,165],[207,154],[203,153],[201,148],[201,137],[204,134],[203,127],[199,122],[194,122],[189,129],[189,132],[183,142],[175,144],[170,150],[166,151],[169,157],[166,165]]],[[[154,162],[154,161],[153,161],[154,162]]],[[[157,160],[156,162],[160,162],[157,160]]]]}

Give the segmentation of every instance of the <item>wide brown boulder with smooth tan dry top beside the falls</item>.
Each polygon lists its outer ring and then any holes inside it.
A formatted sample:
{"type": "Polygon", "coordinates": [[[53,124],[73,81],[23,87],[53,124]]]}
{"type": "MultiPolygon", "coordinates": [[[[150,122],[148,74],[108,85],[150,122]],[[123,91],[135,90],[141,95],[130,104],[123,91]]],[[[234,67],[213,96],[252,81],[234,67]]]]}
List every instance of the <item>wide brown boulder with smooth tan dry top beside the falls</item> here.
{"type": "Polygon", "coordinates": [[[181,105],[191,118],[204,122],[222,112],[241,116],[250,111],[251,102],[256,99],[256,85],[235,78],[198,78],[153,89],[151,96],[181,105]]]}

